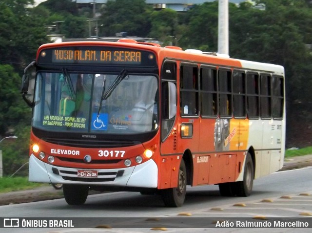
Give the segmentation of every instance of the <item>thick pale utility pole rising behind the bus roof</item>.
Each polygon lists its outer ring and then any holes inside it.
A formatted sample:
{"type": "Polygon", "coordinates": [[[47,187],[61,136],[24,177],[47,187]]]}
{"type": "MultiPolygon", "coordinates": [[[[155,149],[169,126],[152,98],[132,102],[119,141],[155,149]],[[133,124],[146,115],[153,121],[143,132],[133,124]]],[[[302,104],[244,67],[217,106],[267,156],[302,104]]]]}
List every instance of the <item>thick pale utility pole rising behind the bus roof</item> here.
{"type": "Polygon", "coordinates": [[[218,53],[229,55],[229,0],[219,0],[218,53]]]}

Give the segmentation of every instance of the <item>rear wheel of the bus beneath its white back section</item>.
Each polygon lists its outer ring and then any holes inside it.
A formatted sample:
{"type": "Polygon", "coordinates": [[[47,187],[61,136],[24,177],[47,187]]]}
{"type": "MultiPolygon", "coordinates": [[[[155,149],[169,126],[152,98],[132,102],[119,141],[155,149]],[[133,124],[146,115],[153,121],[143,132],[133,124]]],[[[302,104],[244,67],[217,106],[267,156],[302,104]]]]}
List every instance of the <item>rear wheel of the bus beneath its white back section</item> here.
{"type": "Polygon", "coordinates": [[[254,184],[254,163],[250,153],[247,153],[245,167],[244,167],[244,178],[243,181],[234,182],[232,189],[237,196],[250,196],[253,191],[254,184]]]}

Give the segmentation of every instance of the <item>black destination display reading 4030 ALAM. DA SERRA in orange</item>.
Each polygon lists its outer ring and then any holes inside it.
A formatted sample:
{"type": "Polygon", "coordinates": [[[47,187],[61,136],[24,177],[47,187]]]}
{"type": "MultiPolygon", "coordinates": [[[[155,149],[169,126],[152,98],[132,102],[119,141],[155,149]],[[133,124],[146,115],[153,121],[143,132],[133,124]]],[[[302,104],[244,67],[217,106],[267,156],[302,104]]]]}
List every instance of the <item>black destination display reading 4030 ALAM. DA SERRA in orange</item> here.
{"type": "Polygon", "coordinates": [[[110,64],[155,66],[152,52],[118,47],[76,46],[40,51],[38,64],[110,64]]]}

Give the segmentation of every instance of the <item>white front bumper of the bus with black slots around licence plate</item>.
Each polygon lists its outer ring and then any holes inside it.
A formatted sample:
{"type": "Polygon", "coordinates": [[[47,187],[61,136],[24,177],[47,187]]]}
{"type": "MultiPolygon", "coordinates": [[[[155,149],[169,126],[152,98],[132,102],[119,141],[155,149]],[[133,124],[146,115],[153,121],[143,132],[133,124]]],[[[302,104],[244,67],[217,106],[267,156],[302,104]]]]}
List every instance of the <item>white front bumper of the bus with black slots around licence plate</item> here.
{"type": "Polygon", "coordinates": [[[44,163],[33,154],[29,158],[29,181],[32,182],[157,188],[158,169],[152,159],[129,168],[96,169],[98,177],[78,177],[78,170],[81,169],[57,167],[44,163]]]}

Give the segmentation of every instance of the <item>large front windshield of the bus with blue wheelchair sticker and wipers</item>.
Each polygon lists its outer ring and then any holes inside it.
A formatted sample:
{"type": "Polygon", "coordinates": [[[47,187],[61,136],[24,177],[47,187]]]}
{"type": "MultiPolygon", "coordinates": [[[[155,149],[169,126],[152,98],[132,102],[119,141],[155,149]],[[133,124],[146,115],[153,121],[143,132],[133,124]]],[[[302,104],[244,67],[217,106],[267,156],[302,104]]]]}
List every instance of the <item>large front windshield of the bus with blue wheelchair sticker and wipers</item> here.
{"type": "Polygon", "coordinates": [[[152,75],[39,72],[32,125],[55,132],[148,132],[158,127],[157,101],[152,75]]]}

